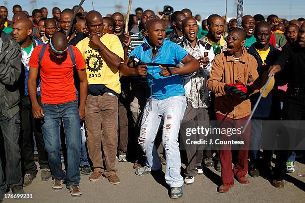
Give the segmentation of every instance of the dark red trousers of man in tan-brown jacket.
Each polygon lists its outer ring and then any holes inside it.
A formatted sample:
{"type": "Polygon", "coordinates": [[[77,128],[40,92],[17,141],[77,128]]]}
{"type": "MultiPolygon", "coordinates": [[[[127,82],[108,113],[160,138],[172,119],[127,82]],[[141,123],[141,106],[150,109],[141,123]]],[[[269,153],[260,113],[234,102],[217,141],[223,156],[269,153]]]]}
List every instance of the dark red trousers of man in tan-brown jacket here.
{"type": "MultiPolygon", "coordinates": [[[[218,121],[223,121],[221,124],[221,128],[241,128],[245,122],[238,122],[238,121],[246,121],[249,116],[243,117],[241,119],[232,119],[226,117],[225,115],[216,113],[216,119],[218,121]]],[[[221,145],[220,146],[220,161],[221,161],[221,180],[224,184],[231,183],[234,181],[235,176],[245,176],[248,171],[248,149],[249,149],[249,138],[250,138],[250,131],[251,131],[251,123],[248,125],[244,134],[239,134],[238,136],[241,140],[245,141],[243,147],[237,152],[237,159],[232,171],[232,152],[231,152],[231,145],[221,145]]],[[[221,135],[222,140],[231,140],[230,136],[226,134],[221,135]]]]}

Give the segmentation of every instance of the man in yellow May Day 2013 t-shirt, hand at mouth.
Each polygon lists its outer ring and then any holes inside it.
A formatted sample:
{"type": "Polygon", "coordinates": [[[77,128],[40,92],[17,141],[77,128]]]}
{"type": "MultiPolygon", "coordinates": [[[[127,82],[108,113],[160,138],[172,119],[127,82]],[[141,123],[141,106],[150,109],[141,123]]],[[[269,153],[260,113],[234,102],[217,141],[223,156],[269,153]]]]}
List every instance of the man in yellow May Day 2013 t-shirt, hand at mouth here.
{"type": "Polygon", "coordinates": [[[87,147],[94,169],[90,181],[96,181],[104,174],[110,183],[119,184],[115,167],[118,97],[121,93],[118,67],[124,62],[124,50],[116,35],[103,33],[103,17],[98,11],[87,13],[86,24],[89,37],[80,41],[76,47],[86,62],[88,78],[85,122],[87,147]]]}

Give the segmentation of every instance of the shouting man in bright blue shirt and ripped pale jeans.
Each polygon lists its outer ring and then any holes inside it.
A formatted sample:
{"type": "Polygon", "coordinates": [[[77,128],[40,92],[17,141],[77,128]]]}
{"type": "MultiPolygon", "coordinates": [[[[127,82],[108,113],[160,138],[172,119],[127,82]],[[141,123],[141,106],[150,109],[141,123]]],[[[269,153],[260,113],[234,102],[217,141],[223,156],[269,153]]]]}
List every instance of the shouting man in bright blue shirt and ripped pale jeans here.
{"type": "MultiPolygon", "coordinates": [[[[139,144],[147,161],[146,166],[136,171],[137,175],[148,175],[151,171],[162,169],[154,139],[161,122],[164,119],[162,144],[166,155],[165,181],[170,186],[170,198],[182,197],[183,178],[180,175],[180,153],[178,132],[180,120],[186,108],[185,90],[179,74],[193,73],[199,69],[199,62],[189,55],[182,47],[164,40],[165,27],[159,19],[147,22],[148,37],[145,42],[136,47],[130,57],[134,56],[145,63],[184,64],[183,68],[168,68],[162,66],[139,65],[136,69],[129,68],[129,58],[120,66],[120,72],[125,76],[147,76],[151,97],[143,111],[139,144]]],[[[133,67],[132,65],[129,65],[133,67]]]]}

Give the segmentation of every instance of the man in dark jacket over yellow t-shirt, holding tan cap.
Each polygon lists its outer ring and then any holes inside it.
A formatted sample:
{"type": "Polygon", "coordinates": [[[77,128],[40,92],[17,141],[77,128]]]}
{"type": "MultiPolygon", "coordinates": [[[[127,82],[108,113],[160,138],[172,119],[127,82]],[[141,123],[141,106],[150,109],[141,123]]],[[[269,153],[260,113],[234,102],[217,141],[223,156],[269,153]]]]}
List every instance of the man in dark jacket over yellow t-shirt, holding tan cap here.
{"type": "MultiPolygon", "coordinates": [[[[259,79],[261,82],[261,90],[259,93],[253,94],[250,97],[250,101],[252,104],[252,108],[257,102],[260,93],[262,92],[267,79],[268,79],[268,69],[270,65],[273,65],[280,51],[276,49],[272,44],[269,43],[271,37],[271,27],[268,22],[261,21],[256,24],[255,27],[255,34],[256,43],[252,44],[251,47],[248,49],[248,52],[254,56],[257,61],[258,67],[257,71],[259,73],[259,79]]],[[[262,136],[262,129],[263,129],[263,121],[266,120],[270,116],[271,112],[271,105],[272,105],[272,89],[274,86],[275,80],[272,77],[271,81],[266,87],[266,90],[253,114],[252,121],[251,121],[251,135],[250,135],[250,163],[251,169],[249,175],[252,177],[258,177],[261,173],[268,174],[270,171],[268,167],[259,171],[257,167],[257,152],[260,149],[260,140],[262,136]]],[[[271,151],[264,149],[263,160],[265,164],[262,166],[269,166],[270,160],[268,161],[269,157],[271,159],[272,153],[271,151]],[[271,155],[269,155],[271,153],[271,155]]]]}

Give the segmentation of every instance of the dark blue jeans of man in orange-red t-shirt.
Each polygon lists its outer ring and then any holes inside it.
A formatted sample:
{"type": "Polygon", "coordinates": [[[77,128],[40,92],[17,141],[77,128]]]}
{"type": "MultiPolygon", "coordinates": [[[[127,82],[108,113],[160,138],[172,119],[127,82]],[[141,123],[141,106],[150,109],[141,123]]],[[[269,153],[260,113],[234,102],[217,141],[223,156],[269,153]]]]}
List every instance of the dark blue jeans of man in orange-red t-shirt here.
{"type": "Polygon", "coordinates": [[[48,153],[52,177],[67,182],[67,188],[78,185],[80,180],[79,162],[81,154],[80,118],[78,102],[60,104],[41,103],[44,119],[42,134],[45,150],[48,153]],[[60,124],[63,122],[67,148],[66,173],[61,167],[60,158],[60,124]]]}

